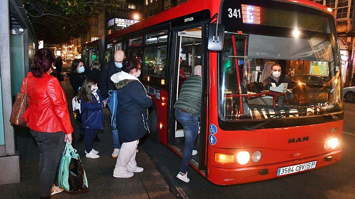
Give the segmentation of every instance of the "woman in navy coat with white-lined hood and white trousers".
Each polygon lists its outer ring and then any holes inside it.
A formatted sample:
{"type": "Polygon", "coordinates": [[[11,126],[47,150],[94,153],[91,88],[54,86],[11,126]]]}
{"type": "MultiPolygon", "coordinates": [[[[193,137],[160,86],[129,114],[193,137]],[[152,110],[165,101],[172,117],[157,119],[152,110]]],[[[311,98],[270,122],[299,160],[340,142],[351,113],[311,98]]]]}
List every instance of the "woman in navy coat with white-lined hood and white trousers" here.
{"type": "Polygon", "coordinates": [[[129,178],[133,172],[142,172],[137,166],[136,148],[140,138],[148,131],[148,107],[153,101],[147,90],[138,80],[141,74],[140,63],[136,59],[125,59],[122,71],[111,76],[117,89],[116,122],[121,145],[113,176],[129,178]]]}

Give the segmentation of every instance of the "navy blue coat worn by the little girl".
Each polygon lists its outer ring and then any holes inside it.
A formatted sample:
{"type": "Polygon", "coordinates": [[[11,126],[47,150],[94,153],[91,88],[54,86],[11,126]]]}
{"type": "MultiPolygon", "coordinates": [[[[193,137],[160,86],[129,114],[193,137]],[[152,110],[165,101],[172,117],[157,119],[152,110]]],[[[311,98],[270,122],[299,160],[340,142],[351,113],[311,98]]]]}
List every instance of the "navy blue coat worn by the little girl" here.
{"type": "Polygon", "coordinates": [[[103,129],[104,128],[104,103],[103,98],[99,91],[96,92],[99,95],[100,103],[97,102],[96,97],[91,93],[92,101],[94,103],[85,102],[81,97],[80,110],[83,127],[85,129],[103,129]]]}

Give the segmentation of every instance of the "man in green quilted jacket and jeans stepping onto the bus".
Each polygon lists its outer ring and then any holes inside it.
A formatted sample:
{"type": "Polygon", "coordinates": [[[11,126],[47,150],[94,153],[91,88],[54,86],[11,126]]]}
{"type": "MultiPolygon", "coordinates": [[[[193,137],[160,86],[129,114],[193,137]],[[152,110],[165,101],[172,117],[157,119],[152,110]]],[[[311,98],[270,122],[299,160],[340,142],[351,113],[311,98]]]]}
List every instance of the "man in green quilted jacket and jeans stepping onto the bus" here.
{"type": "Polygon", "coordinates": [[[187,167],[192,156],[197,134],[200,133],[198,119],[201,118],[202,79],[201,66],[193,69],[193,76],[181,85],[178,100],[174,104],[175,117],[184,127],[185,147],[182,153],[180,171],[176,176],[184,182],[190,182],[187,177],[187,167]]]}

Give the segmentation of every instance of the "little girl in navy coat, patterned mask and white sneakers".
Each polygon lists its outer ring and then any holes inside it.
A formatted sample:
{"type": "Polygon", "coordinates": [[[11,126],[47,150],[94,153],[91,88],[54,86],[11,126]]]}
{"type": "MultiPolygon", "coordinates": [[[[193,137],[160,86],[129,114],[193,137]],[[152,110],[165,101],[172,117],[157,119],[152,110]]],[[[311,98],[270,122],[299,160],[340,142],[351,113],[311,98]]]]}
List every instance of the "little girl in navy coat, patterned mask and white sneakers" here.
{"type": "Polygon", "coordinates": [[[104,128],[104,111],[106,101],[101,97],[97,80],[86,78],[78,92],[81,98],[81,119],[85,129],[85,153],[87,158],[99,158],[98,151],[92,148],[98,129],[104,128]]]}

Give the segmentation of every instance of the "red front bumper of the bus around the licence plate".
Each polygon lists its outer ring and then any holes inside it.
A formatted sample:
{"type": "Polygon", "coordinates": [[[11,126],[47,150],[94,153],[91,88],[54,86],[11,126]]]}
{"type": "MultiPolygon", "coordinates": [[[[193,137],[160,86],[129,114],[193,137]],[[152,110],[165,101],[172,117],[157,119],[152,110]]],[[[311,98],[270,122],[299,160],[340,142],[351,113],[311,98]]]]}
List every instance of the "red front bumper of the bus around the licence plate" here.
{"type": "Polygon", "coordinates": [[[221,167],[211,166],[208,169],[207,178],[214,184],[218,184],[218,185],[231,185],[231,184],[242,184],[248,182],[263,181],[272,178],[298,174],[304,171],[311,171],[323,166],[335,164],[340,160],[341,156],[342,156],[342,149],[340,148],[338,150],[324,153],[321,155],[316,155],[316,156],[306,157],[306,158],[301,158],[296,160],[290,160],[290,161],[285,161],[280,163],[273,163],[273,164],[264,164],[264,165],[238,167],[238,168],[221,168],[221,167]],[[303,163],[309,163],[312,161],[317,161],[316,167],[313,169],[308,169],[308,170],[299,171],[292,174],[277,176],[279,168],[299,165],[303,163]]]}

